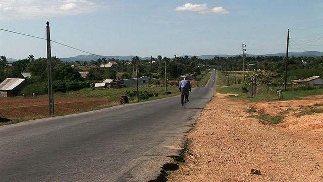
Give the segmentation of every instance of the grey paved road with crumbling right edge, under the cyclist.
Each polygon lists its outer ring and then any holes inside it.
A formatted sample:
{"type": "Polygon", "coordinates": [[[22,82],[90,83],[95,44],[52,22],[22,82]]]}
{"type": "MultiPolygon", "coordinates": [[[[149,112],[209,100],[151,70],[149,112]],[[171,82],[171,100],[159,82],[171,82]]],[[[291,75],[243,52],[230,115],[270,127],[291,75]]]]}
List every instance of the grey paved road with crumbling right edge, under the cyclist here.
{"type": "Polygon", "coordinates": [[[0,181],[149,181],[213,96],[205,87],[180,96],[0,126],[0,181]]]}

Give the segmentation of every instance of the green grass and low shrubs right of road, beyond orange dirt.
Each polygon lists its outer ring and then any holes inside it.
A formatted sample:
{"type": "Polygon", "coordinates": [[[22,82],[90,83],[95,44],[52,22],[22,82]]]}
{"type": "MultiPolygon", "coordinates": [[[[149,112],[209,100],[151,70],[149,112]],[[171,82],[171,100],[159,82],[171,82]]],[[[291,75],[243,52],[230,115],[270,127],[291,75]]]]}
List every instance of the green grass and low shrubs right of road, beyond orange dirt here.
{"type": "MultiPolygon", "coordinates": [[[[323,87],[320,86],[307,86],[307,85],[298,85],[298,86],[288,86],[286,92],[282,92],[281,98],[278,97],[278,90],[283,90],[284,87],[282,85],[273,84],[273,85],[265,85],[265,84],[258,84],[256,87],[251,87],[251,79],[246,76],[244,83],[235,83],[236,77],[235,72],[227,72],[228,76],[224,73],[218,73],[217,79],[217,92],[221,94],[232,94],[230,95],[231,99],[236,100],[246,100],[249,102],[275,102],[275,101],[291,101],[291,100],[300,100],[307,97],[310,99],[310,96],[317,96],[322,95],[323,87]],[[257,90],[257,92],[254,92],[257,90]]],[[[251,75],[257,75],[259,72],[250,71],[251,75]]],[[[237,79],[243,79],[243,72],[237,72],[237,79]]],[[[268,76],[267,81],[275,82],[277,78],[273,78],[268,76]]],[[[253,84],[254,85],[254,84],[253,84]]],[[[284,116],[284,112],[290,112],[286,110],[280,113],[278,116],[270,116],[263,112],[255,114],[256,110],[254,108],[246,109],[246,112],[250,114],[250,117],[255,117],[259,119],[263,124],[270,122],[273,124],[278,124],[282,122],[282,117],[284,116]]],[[[321,113],[323,112],[321,104],[315,104],[314,106],[304,106],[301,108],[300,113],[298,116],[306,115],[306,114],[313,114],[313,113],[321,113]]]]}

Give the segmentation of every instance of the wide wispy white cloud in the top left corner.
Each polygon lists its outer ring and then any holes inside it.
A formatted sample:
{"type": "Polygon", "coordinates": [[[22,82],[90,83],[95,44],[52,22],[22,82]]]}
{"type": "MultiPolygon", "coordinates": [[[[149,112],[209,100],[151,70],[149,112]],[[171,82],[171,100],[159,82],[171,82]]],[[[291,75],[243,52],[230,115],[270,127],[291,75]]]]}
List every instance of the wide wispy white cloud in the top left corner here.
{"type": "Polygon", "coordinates": [[[105,10],[92,0],[20,0],[0,2],[0,20],[37,19],[105,10]]]}

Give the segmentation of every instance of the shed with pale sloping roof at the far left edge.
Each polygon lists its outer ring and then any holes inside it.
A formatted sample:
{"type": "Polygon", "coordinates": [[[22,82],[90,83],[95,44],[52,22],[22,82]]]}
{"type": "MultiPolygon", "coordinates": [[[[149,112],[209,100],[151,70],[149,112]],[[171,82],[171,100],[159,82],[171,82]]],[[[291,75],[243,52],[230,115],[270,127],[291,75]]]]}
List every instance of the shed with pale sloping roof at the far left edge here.
{"type": "Polygon", "coordinates": [[[25,78],[7,78],[0,83],[0,97],[19,96],[21,90],[29,84],[25,78]]]}

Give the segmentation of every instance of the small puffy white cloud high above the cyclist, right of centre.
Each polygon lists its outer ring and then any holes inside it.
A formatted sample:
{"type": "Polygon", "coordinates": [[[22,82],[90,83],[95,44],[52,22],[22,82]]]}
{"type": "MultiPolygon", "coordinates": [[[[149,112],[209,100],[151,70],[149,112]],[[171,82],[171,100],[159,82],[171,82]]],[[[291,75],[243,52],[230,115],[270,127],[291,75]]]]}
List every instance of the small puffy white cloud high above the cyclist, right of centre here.
{"type": "Polygon", "coordinates": [[[221,15],[221,14],[229,14],[227,10],[223,7],[214,7],[209,9],[206,4],[191,4],[186,3],[183,6],[179,6],[175,9],[175,11],[190,11],[197,12],[200,14],[212,14],[212,15],[221,15]]]}

